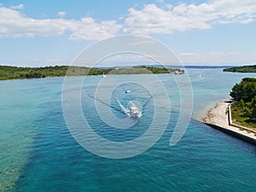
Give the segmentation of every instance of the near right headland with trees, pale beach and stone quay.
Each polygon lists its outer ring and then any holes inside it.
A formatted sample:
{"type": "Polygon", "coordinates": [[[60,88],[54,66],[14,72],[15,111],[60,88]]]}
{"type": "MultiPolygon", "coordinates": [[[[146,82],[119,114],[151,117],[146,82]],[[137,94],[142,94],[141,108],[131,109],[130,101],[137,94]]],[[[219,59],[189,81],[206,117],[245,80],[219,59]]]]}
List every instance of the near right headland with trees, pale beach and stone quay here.
{"type": "Polygon", "coordinates": [[[256,144],[256,79],[244,78],[201,121],[234,137],[256,144]]]}

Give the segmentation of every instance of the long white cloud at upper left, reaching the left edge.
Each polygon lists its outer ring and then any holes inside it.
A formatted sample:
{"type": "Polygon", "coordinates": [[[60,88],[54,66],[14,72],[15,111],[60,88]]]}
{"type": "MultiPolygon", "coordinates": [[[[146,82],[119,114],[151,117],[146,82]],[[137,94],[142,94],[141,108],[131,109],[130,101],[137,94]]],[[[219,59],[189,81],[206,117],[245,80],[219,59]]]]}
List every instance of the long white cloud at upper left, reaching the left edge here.
{"type": "Polygon", "coordinates": [[[0,38],[55,36],[69,30],[72,32],[70,39],[98,40],[113,37],[120,28],[115,20],[98,22],[91,17],[84,17],[81,20],[36,20],[22,15],[18,10],[0,6],[0,38]]]}

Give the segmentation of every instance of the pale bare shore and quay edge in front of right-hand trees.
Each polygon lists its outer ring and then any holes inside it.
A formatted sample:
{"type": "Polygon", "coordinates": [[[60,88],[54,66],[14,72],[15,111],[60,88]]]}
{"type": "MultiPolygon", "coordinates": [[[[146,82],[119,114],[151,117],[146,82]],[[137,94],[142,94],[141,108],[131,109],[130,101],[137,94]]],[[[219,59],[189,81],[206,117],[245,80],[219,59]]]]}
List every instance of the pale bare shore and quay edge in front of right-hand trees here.
{"type": "Polygon", "coordinates": [[[230,99],[217,102],[214,108],[207,111],[205,117],[201,118],[201,122],[212,126],[212,128],[230,134],[233,137],[241,138],[249,143],[256,144],[256,136],[252,131],[241,130],[236,126],[229,124],[229,115],[227,108],[230,105],[230,99]]]}

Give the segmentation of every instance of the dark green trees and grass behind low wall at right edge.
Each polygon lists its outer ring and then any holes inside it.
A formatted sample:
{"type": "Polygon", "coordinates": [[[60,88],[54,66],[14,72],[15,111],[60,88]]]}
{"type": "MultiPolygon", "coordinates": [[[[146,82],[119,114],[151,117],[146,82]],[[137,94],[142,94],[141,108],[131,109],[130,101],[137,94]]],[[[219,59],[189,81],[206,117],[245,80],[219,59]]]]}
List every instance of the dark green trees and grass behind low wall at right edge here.
{"type": "Polygon", "coordinates": [[[244,78],[230,92],[234,123],[256,128],[256,79],[244,78]]]}

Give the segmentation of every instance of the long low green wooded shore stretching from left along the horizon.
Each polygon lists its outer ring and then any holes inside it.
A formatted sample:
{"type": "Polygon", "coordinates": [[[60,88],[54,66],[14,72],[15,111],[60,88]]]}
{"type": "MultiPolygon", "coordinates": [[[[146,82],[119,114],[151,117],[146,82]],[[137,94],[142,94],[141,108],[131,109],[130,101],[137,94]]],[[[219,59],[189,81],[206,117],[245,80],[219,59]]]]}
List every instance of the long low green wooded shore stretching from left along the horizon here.
{"type": "Polygon", "coordinates": [[[84,76],[102,74],[147,74],[147,73],[184,73],[182,69],[136,66],[130,68],[96,67],[10,67],[0,66],[0,80],[33,79],[62,76],[84,76]]]}

